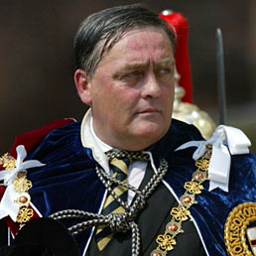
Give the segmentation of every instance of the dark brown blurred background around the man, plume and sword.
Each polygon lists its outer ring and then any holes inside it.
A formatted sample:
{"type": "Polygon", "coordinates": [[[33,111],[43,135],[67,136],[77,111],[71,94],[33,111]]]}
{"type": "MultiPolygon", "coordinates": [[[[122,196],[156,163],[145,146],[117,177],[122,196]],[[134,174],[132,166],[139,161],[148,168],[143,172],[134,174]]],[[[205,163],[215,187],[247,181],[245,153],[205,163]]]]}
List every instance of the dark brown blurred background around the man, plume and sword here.
{"type": "MultiPolygon", "coordinates": [[[[83,17],[132,0],[0,2],[1,144],[63,117],[80,119],[84,105],[72,81],[72,39],[83,17]],[[75,15],[73,15],[75,13],[75,15]]],[[[256,2],[144,0],[156,12],[172,9],[189,21],[192,102],[218,123],[215,30],[225,50],[227,125],[242,129],[256,152],[256,2]]]]}

